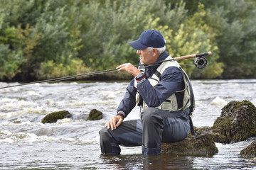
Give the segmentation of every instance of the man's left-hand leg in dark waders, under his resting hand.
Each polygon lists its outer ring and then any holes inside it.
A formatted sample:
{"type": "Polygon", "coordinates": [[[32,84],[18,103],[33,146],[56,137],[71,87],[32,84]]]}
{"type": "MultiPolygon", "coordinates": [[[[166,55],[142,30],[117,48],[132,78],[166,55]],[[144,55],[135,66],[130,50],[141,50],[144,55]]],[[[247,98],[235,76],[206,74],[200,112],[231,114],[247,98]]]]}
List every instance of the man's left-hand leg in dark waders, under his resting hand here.
{"type": "Polygon", "coordinates": [[[102,154],[120,154],[119,145],[124,147],[142,146],[141,120],[122,122],[116,130],[100,130],[100,148],[102,154]]]}

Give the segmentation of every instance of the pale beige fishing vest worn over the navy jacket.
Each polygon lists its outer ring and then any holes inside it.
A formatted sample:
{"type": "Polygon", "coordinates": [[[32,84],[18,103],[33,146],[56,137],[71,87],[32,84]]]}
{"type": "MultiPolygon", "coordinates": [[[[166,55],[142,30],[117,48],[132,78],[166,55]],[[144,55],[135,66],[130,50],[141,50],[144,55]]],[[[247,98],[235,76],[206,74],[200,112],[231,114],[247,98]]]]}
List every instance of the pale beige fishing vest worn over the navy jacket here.
{"type": "MultiPolygon", "coordinates": [[[[172,57],[166,57],[166,60],[171,60],[172,57]]],[[[168,68],[168,67],[177,67],[182,72],[183,81],[185,84],[185,88],[181,91],[176,91],[174,94],[169,96],[163,103],[161,103],[160,106],[156,107],[164,111],[184,111],[186,108],[191,107],[190,113],[193,113],[194,110],[194,98],[193,98],[193,90],[191,86],[191,82],[188,79],[188,76],[186,72],[183,71],[181,66],[176,61],[168,61],[168,62],[162,62],[161,65],[156,69],[156,72],[152,75],[152,77],[149,77],[148,80],[151,84],[151,86],[156,86],[156,84],[159,83],[159,79],[161,74],[168,68]]],[[[139,70],[144,73],[144,68],[139,68],[139,70]]],[[[137,88],[137,81],[135,79],[134,86],[137,88]]],[[[137,91],[137,104],[141,103],[142,98],[139,96],[139,91],[137,91]]],[[[149,106],[146,105],[146,103],[143,101],[142,103],[142,111],[149,106]]]]}

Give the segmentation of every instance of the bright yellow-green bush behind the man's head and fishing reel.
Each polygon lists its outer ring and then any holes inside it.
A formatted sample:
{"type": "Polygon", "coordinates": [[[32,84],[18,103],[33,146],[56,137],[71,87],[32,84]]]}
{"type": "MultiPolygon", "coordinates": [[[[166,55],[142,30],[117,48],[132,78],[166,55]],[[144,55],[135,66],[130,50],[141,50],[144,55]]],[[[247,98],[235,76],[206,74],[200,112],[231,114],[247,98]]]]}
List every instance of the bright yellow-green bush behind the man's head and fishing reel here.
{"type": "Polygon", "coordinates": [[[206,21],[209,17],[210,14],[204,10],[203,4],[198,4],[198,11],[186,18],[177,31],[170,29],[169,26],[159,26],[160,18],[149,22],[149,26],[145,28],[160,30],[163,33],[166,39],[166,50],[173,57],[212,51],[214,55],[207,57],[209,66],[203,70],[191,67],[193,60],[182,60],[180,64],[188,75],[194,78],[213,79],[223,72],[223,63],[217,62],[218,47],[214,42],[216,33],[211,26],[207,25],[206,21]]]}

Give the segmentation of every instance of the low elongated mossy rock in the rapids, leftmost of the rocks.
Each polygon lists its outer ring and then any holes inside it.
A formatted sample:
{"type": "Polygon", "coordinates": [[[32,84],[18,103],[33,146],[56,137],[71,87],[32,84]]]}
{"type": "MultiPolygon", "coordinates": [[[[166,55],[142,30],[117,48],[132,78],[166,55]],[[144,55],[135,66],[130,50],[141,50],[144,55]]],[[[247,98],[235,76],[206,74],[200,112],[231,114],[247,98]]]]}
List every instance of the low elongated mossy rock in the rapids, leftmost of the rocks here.
{"type": "Polygon", "coordinates": [[[53,112],[41,120],[41,123],[56,123],[58,119],[72,118],[73,116],[68,111],[53,112]]]}

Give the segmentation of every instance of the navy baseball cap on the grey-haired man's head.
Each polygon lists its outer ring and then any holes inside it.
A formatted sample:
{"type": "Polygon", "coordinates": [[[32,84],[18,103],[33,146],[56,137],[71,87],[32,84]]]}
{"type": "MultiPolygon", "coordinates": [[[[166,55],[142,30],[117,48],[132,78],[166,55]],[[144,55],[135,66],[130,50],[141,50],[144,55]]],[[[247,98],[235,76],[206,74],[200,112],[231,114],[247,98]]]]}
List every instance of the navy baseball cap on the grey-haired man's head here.
{"type": "Polygon", "coordinates": [[[129,44],[135,50],[142,50],[146,47],[164,47],[165,40],[163,35],[157,30],[145,30],[140,36],[138,40],[134,40],[129,42],[129,44]]]}

